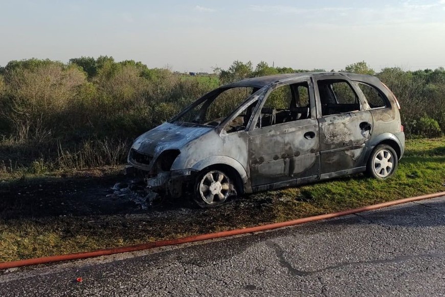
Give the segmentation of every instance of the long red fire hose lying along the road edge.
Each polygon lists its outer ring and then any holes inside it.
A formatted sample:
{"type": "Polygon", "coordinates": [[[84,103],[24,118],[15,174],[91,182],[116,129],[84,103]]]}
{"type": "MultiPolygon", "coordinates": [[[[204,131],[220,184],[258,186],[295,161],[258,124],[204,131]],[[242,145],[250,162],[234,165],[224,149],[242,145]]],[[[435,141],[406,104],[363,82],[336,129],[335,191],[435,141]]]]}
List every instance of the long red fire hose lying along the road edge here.
{"type": "Polygon", "coordinates": [[[19,260],[19,261],[13,261],[13,262],[4,262],[4,263],[0,263],[0,269],[7,269],[7,268],[13,268],[13,267],[28,266],[28,265],[36,265],[36,264],[46,264],[46,263],[59,262],[59,261],[85,259],[85,258],[106,256],[106,255],[122,253],[122,252],[138,251],[138,250],[150,249],[150,248],[161,247],[161,246],[176,245],[176,244],[182,244],[182,243],[190,243],[190,242],[203,241],[203,240],[209,240],[209,239],[215,239],[215,238],[221,238],[221,237],[241,235],[241,234],[247,234],[247,233],[252,233],[252,232],[259,232],[259,231],[271,230],[271,229],[282,228],[282,227],[287,227],[287,226],[293,226],[293,225],[303,224],[303,223],[307,223],[307,222],[314,222],[314,221],[326,220],[326,219],[331,219],[331,218],[336,218],[336,217],[341,217],[341,216],[347,216],[347,215],[362,213],[363,211],[388,207],[388,206],[407,203],[407,202],[419,201],[419,200],[424,200],[424,199],[429,199],[429,198],[435,198],[435,197],[440,197],[440,196],[445,196],[445,192],[429,194],[429,195],[422,195],[422,196],[405,198],[405,199],[399,199],[399,200],[395,200],[395,201],[389,201],[389,202],[374,204],[374,205],[370,205],[370,206],[364,206],[364,207],[339,211],[338,213],[319,215],[319,216],[314,216],[314,217],[302,218],[302,219],[281,222],[281,223],[275,223],[275,224],[261,225],[261,226],[244,228],[244,229],[221,231],[221,232],[216,232],[216,233],[211,233],[211,234],[203,234],[203,235],[190,236],[190,237],[184,237],[184,238],[179,238],[179,239],[156,241],[156,242],[150,242],[150,243],[145,243],[145,244],[123,246],[123,247],[110,248],[110,249],[101,249],[101,250],[96,250],[96,251],[62,254],[60,256],[51,256],[51,257],[19,260]]]}

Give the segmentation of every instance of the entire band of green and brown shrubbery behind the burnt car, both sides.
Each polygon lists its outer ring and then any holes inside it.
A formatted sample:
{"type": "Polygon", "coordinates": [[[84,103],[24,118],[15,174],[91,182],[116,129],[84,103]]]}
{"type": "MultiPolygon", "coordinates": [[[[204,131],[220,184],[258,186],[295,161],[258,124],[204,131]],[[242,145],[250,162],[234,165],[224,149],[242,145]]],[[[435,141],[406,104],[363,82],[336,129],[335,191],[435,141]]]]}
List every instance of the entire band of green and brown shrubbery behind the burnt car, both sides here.
{"type": "MultiPolygon", "coordinates": [[[[191,77],[108,56],[75,58],[68,64],[11,61],[0,68],[0,169],[118,164],[125,161],[132,139],[219,83],[306,71],[263,61],[254,69],[251,62],[235,61],[218,74],[191,77]]],[[[364,61],[346,71],[374,73],[364,61]]],[[[408,136],[436,137],[445,131],[443,68],[386,68],[376,75],[398,97],[408,136]]]]}

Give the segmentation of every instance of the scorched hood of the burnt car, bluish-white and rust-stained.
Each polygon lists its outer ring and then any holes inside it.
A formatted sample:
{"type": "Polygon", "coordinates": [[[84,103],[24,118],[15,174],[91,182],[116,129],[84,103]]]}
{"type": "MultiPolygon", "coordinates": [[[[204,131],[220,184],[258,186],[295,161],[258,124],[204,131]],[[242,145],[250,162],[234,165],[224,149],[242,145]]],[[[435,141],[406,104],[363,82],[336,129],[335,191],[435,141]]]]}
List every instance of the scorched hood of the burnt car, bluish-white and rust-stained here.
{"type": "Polygon", "coordinates": [[[163,123],[139,136],[133,143],[132,149],[154,156],[164,150],[181,149],[185,144],[213,129],[213,127],[201,125],[185,126],[163,123]]]}

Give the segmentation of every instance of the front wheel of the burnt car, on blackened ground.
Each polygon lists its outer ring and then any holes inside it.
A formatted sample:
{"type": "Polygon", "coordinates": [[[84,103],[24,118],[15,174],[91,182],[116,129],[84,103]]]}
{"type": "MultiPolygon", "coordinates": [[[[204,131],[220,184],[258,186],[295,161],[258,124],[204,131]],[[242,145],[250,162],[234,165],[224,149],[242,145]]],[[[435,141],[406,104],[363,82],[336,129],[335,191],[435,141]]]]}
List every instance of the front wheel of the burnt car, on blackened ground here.
{"type": "Polygon", "coordinates": [[[219,169],[203,171],[196,178],[193,201],[202,208],[224,204],[236,195],[234,179],[219,169]]]}

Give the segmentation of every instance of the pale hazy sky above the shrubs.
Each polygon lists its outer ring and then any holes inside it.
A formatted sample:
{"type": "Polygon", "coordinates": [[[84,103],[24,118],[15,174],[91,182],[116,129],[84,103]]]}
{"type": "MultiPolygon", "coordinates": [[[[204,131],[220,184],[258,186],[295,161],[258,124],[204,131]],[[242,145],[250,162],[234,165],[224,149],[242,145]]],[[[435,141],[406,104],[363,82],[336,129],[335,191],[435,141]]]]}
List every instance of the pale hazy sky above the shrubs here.
{"type": "Polygon", "coordinates": [[[234,60],[435,69],[445,66],[445,0],[0,0],[0,66],[100,55],[181,72],[234,60]]]}

